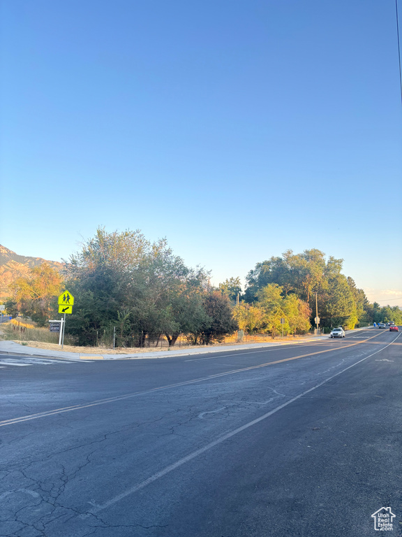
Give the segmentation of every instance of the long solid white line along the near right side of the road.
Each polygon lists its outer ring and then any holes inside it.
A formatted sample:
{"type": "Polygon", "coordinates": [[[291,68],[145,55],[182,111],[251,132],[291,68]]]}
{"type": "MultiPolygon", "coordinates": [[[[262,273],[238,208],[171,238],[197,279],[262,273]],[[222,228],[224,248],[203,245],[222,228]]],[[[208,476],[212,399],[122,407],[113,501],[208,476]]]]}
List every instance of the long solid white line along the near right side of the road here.
{"type": "MultiPolygon", "coordinates": [[[[401,336],[401,334],[399,334],[399,336],[401,336]]],[[[395,338],[395,340],[396,339],[397,338],[395,338]]],[[[368,355],[365,358],[362,358],[361,360],[355,362],[355,364],[352,364],[351,366],[345,367],[345,369],[342,369],[342,371],[338,371],[338,373],[335,373],[334,375],[326,378],[325,380],[322,380],[322,382],[320,382],[319,384],[313,386],[312,388],[306,389],[305,392],[302,392],[301,394],[299,394],[299,395],[297,395],[295,397],[292,397],[292,399],[290,399],[289,401],[286,401],[286,403],[283,403],[283,404],[277,406],[276,408],[274,408],[274,410],[271,410],[270,412],[267,412],[266,414],[258,417],[256,420],[248,422],[245,425],[242,425],[241,427],[238,427],[237,429],[234,429],[234,431],[230,431],[230,433],[227,433],[227,434],[221,436],[221,438],[218,438],[214,442],[211,442],[211,443],[209,443],[207,445],[204,445],[204,447],[201,447],[199,450],[193,451],[193,453],[188,454],[186,457],[183,457],[183,459],[179,459],[178,461],[174,462],[173,464],[170,464],[170,466],[166,466],[165,468],[163,468],[163,470],[161,470],[161,471],[159,471],[157,473],[154,473],[154,475],[151,475],[150,478],[138,483],[137,485],[134,485],[134,487],[131,487],[130,489],[127,489],[124,492],[121,492],[121,494],[118,494],[117,496],[114,496],[114,498],[111,498],[110,500],[106,501],[105,503],[103,503],[103,505],[98,505],[94,509],[91,509],[87,515],[80,515],[80,516],[82,518],[86,518],[86,517],[89,517],[91,515],[96,515],[96,513],[99,513],[100,511],[103,511],[104,509],[107,509],[108,507],[113,506],[114,503],[117,503],[118,501],[123,500],[124,498],[126,498],[126,496],[130,496],[130,494],[133,494],[134,492],[137,492],[137,490],[140,490],[140,489],[143,489],[144,487],[147,487],[147,485],[150,485],[154,481],[162,478],[163,475],[166,475],[167,473],[170,473],[173,470],[176,470],[176,468],[179,468],[183,464],[186,464],[186,462],[189,462],[192,459],[195,459],[195,457],[198,457],[198,455],[201,455],[202,453],[204,453],[206,451],[209,451],[212,447],[215,447],[216,445],[219,445],[219,444],[223,443],[225,440],[228,440],[228,438],[232,438],[232,436],[241,433],[241,431],[244,431],[245,429],[248,429],[249,427],[252,427],[253,425],[255,425],[257,423],[262,422],[262,420],[266,420],[267,417],[275,414],[276,412],[278,412],[278,410],[282,410],[282,408],[285,408],[285,406],[288,406],[291,403],[294,403],[295,401],[297,401],[297,399],[300,399],[304,395],[313,392],[315,389],[317,389],[320,386],[322,386],[322,385],[326,384],[327,382],[329,382],[329,380],[332,380],[333,378],[337,377],[338,375],[341,375],[342,373],[345,373],[345,371],[348,371],[348,369],[357,366],[357,364],[361,364],[362,361],[365,361],[366,359],[371,358],[374,355],[377,355],[378,352],[382,352],[384,349],[389,347],[389,345],[392,345],[392,343],[393,342],[388,343],[388,345],[385,345],[385,347],[383,347],[382,349],[376,350],[375,352],[373,352],[373,354],[368,355]]]]}

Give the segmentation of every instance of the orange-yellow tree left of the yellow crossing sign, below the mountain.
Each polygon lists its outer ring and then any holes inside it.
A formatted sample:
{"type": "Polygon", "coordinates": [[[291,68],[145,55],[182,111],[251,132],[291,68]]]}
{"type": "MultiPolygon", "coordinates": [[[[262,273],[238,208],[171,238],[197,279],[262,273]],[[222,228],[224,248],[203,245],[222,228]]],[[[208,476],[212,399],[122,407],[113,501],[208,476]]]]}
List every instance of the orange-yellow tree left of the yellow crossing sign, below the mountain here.
{"type": "Polygon", "coordinates": [[[31,268],[27,277],[18,278],[10,285],[13,297],[8,304],[14,311],[18,310],[40,326],[45,326],[57,314],[57,296],[62,287],[60,273],[49,264],[42,263],[31,268]]]}

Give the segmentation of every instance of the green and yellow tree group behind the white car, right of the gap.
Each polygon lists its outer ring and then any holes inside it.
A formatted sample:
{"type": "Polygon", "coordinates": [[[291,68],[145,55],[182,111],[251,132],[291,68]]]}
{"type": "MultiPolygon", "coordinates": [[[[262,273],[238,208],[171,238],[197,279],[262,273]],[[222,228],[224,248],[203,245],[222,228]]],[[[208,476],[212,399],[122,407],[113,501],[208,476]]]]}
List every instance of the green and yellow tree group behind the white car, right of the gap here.
{"type": "Polygon", "coordinates": [[[248,332],[279,331],[281,318],[285,331],[292,334],[315,325],[353,329],[359,324],[402,322],[398,306],[371,304],[353,278],[341,272],[343,259],[317,249],[295,254],[287,250],[255,265],[246,277],[246,290],[239,294],[239,278],[226,280],[221,289],[234,299],[234,317],[248,332]]]}

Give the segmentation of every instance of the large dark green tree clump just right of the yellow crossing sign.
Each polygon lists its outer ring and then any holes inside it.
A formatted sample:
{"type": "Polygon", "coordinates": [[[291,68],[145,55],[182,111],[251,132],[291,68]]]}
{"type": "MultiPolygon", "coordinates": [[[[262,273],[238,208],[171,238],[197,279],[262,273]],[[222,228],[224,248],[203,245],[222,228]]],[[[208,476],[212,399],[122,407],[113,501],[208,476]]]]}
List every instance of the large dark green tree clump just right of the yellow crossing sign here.
{"type": "Polygon", "coordinates": [[[99,228],[70,258],[76,306],[68,331],[87,345],[97,334],[110,342],[114,327],[121,346],[157,343],[163,334],[174,345],[181,332],[209,322],[202,298],[208,276],[203,268],[188,268],[165,239],[150,243],[138,230],[99,228]]]}

